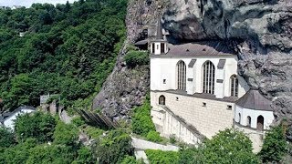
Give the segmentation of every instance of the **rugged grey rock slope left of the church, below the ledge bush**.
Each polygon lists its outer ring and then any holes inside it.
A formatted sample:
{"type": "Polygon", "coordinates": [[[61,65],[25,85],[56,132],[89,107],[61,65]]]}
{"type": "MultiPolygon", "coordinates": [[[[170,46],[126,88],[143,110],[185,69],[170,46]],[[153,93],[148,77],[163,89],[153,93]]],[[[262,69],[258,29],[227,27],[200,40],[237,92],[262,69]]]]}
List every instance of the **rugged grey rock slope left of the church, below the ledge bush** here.
{"type": "Polygon", "coordinates": [[[124,62],[125,43],[120,50],[116,67],[93,100],[92,109],[113,119],[129,119],[130,109],[141,106],[150,85],[149,66],[129,68],[124,62]]]}

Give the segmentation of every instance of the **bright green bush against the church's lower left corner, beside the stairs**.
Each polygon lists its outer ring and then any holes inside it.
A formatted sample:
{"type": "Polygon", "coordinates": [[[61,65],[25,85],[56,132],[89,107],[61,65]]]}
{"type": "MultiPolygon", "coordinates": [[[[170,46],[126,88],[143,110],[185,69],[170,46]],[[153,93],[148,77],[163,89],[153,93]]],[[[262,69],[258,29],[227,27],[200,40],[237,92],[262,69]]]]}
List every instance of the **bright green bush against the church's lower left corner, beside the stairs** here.
{"type": "Polygon", "coordinates": [[[150,100],[146,99],[139,108],[134,108],[131,127],[134,133],[147,137],[150,131],[155,131],[155,126],[151,119],[150,100]]]}

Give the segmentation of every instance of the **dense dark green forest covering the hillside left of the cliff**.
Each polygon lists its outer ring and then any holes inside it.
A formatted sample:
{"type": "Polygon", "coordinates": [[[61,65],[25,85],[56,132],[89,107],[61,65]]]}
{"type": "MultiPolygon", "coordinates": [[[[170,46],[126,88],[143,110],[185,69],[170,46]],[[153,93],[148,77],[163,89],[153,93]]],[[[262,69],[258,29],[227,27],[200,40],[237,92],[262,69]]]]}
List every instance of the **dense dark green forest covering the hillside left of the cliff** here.
{"type": "Polygon", "coordinates": [[[86,106],[114,66],[126,7],[127,0],[79,0],[0,10],[2,110],[37,106],[47,93],[66,107],[86,106]]]}

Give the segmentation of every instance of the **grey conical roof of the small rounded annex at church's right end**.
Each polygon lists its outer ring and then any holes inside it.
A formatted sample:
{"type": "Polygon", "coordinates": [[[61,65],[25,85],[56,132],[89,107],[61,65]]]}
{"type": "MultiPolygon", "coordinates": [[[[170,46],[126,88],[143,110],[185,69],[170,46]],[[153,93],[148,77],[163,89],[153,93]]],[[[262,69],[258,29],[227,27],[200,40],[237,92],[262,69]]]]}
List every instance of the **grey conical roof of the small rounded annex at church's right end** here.
{"type": "Polygon", "coordinates": [[[255,110],[273,111],[271,104],[272,101],[268,100],[254,88],[251,88],[243,97],[236,101],[236,105],[242,108],[250,108],[255,110]]]}

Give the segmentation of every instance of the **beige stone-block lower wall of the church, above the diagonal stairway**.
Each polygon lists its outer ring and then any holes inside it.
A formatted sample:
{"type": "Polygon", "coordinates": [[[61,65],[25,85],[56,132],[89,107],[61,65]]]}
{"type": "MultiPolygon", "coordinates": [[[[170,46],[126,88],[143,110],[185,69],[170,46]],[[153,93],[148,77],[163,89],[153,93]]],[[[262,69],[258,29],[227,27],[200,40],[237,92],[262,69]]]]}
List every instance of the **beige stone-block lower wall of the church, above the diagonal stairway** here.
{"type": "MultiPolygon", "coordinates": [[[[167,108],[207,138],[211,138],[219,130],[232,128],[235,103],[177,95],[167,91],[151,91],[151,107],[154,110],[159,110],[158,100],[161,95],[165,97],[167,108]],[[203,103],[206,107],[203,107],[203,103]],[[228,109],[227,106],[232,108],[228,109]]],[[[163,127],[163,131],[169,131],[167,126],[163,127]]]]}

